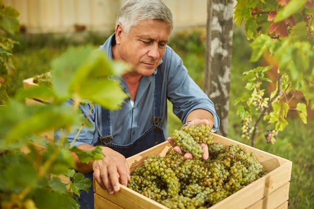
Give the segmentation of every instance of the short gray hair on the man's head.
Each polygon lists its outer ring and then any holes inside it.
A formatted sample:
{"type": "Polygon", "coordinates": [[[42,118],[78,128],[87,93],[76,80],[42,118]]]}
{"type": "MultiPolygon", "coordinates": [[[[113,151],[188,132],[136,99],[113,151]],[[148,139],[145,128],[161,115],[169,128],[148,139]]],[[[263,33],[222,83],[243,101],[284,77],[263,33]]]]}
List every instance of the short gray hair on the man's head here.
{"type": "Polygon", "coordinates": [[[161,20],[174,27],[174,18],[169,8],[161,0],[128,0],[121,7],[116,26],[120,23],[126,35],[142,20],[161,20]]]}

